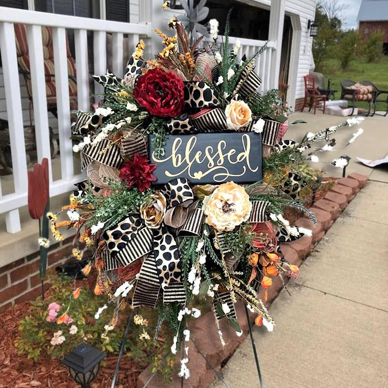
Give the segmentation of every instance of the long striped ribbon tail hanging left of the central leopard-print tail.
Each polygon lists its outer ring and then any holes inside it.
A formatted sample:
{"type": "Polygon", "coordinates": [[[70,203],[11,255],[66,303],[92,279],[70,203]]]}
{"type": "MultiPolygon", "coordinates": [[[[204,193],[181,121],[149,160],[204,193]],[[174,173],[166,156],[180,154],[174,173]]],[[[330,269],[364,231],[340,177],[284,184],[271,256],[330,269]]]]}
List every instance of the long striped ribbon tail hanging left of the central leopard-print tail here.
{"type": "Polygon", "coordinates": [[[160,283],[153,255],[144,260],[139,278],[133,291],[133,308],[149,306],[154,308],[158,300],[160,283]]]}

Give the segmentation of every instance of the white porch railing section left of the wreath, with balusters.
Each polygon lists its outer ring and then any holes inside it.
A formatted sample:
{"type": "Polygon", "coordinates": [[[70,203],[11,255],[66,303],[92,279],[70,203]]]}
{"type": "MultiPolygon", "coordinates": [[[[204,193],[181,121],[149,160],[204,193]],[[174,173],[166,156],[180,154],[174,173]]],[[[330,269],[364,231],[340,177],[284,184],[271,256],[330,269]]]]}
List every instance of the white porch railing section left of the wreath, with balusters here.
{"type": "Polygon", "coordinates": [[[9,233],[21,230],[19,208],[27,204],[27,163],[14,23],[26,24],[27,27],[37,158],[38,161],[44,157],[49,160],[50,196],[70,191],[74,183],[84,178],[83,174],[74,172],[65,29],[74,30],[77,99],[80,110],[90,109],[87,31],[93,32],[94,74],[105,74],[107,33],[111,33],[112,71],[119,77],[123,76],[126,65],[123,63],[124,34],[129,37],[129,52],[133,52],[139,35],[151,36],[149,23],[111,22],[0,7],[0,50],[14,182],[14,193],[11,194],[3,195],[0,185],[0,214],[5,214],[6,229],[9,233]],[[61,178],[57,180],[53,180],[51,169],[41,26],[49,26],[52,29],[61,155],[61,178]]]}

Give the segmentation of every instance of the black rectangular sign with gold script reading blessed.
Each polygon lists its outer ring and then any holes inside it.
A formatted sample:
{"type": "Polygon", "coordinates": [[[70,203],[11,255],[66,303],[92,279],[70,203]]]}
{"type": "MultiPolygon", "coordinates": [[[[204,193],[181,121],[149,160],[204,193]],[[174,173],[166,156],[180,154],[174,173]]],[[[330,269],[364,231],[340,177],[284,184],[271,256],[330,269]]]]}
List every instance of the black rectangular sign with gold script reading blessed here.
{"type": "Polygon", "coordinates": [[[153,151],[149,136],[149,156],[157,168],[152,172],[164,184],[187,178],[193,184],[257,182],[262,179],[261,134],[256,132],[199,133],[169,135],[164,155],[153,151]]]}

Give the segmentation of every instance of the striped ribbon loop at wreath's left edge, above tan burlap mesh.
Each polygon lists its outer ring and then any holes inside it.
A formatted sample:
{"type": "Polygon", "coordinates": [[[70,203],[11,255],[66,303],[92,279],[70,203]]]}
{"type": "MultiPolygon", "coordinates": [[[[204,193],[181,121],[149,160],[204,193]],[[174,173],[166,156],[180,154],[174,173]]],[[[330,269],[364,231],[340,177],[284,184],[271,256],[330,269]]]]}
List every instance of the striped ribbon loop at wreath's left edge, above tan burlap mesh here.
{"type": "Polygon", "coordinates": [[[109,140],[104,139],[95,145],[88,144],[82,150],[82,170],[84,170],[91,162],[96,160],[106,166],[118,169],[124,162],[120,155],[119,148],[112,144],[109,140]]]}

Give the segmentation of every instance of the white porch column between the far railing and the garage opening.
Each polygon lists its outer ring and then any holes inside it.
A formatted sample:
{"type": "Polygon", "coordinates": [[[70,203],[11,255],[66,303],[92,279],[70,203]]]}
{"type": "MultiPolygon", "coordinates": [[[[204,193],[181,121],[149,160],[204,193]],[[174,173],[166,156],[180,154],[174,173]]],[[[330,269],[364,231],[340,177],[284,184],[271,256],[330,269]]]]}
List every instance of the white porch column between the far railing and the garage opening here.
{"type": "Polygon", "coordinates": [[[268,39],[275,41],[275,49],[271,55],[270,88],[279,88],[281,41],[283,39],[285,0],[272,0],[269,15],[268,39]]]}

